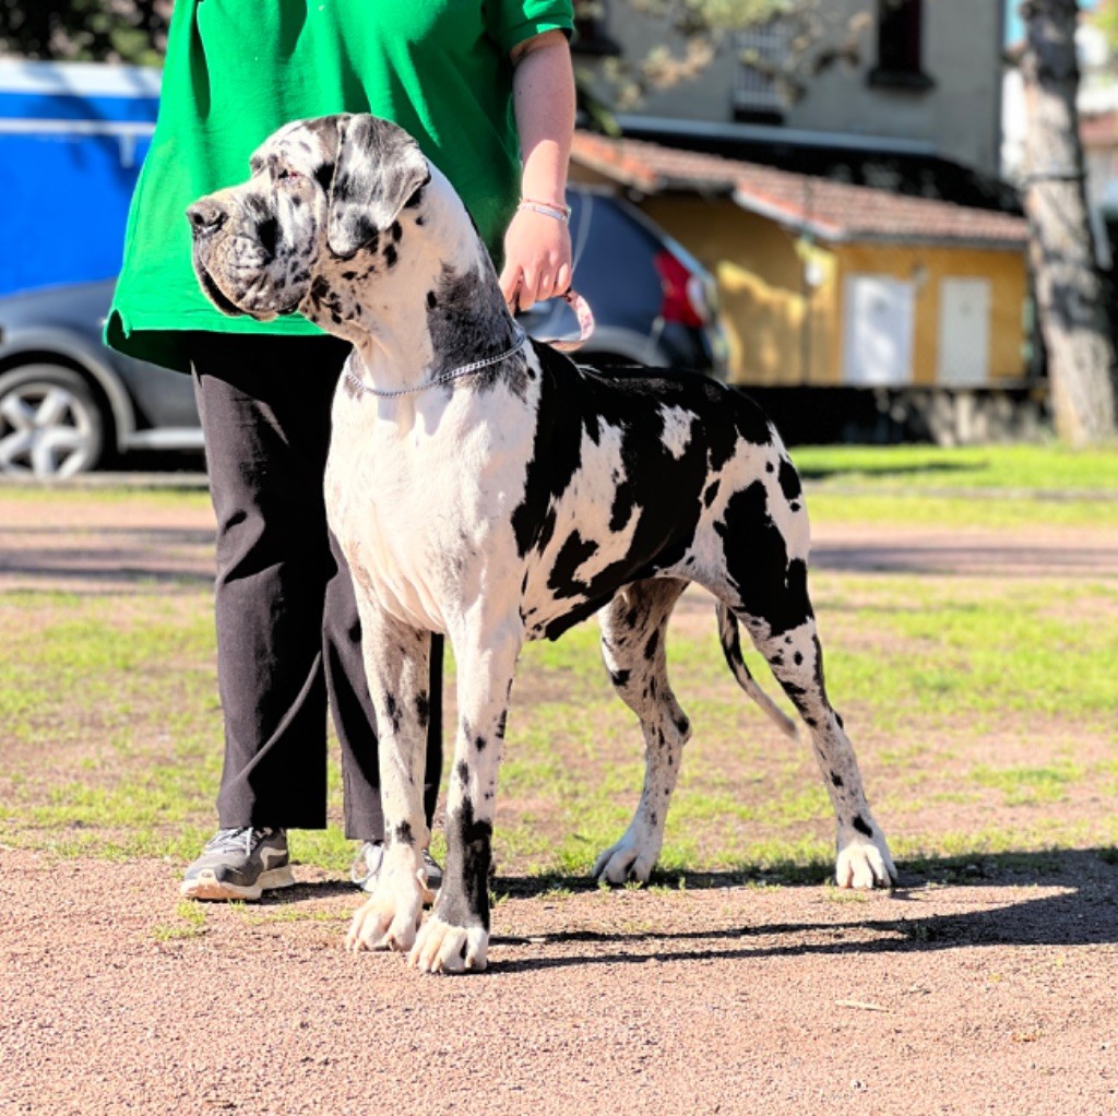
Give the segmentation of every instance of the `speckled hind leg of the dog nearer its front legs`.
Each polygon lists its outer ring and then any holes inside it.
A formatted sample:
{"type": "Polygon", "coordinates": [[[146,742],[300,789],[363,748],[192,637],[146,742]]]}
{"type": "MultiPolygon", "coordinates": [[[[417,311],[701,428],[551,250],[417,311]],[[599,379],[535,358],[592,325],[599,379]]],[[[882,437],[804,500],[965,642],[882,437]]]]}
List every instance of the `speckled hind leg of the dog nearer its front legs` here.
{"type": "Polygon", "coordinates": [[[601,655],[622,700],[644,732],[644,789],[624,836],[594,864],[609,883],[648,881],[664,841],[664,820],[691,736],[686,716],[667,681],[667,620],[686,581],[651,579],[627,586],[598,613],[601,655]]]}

